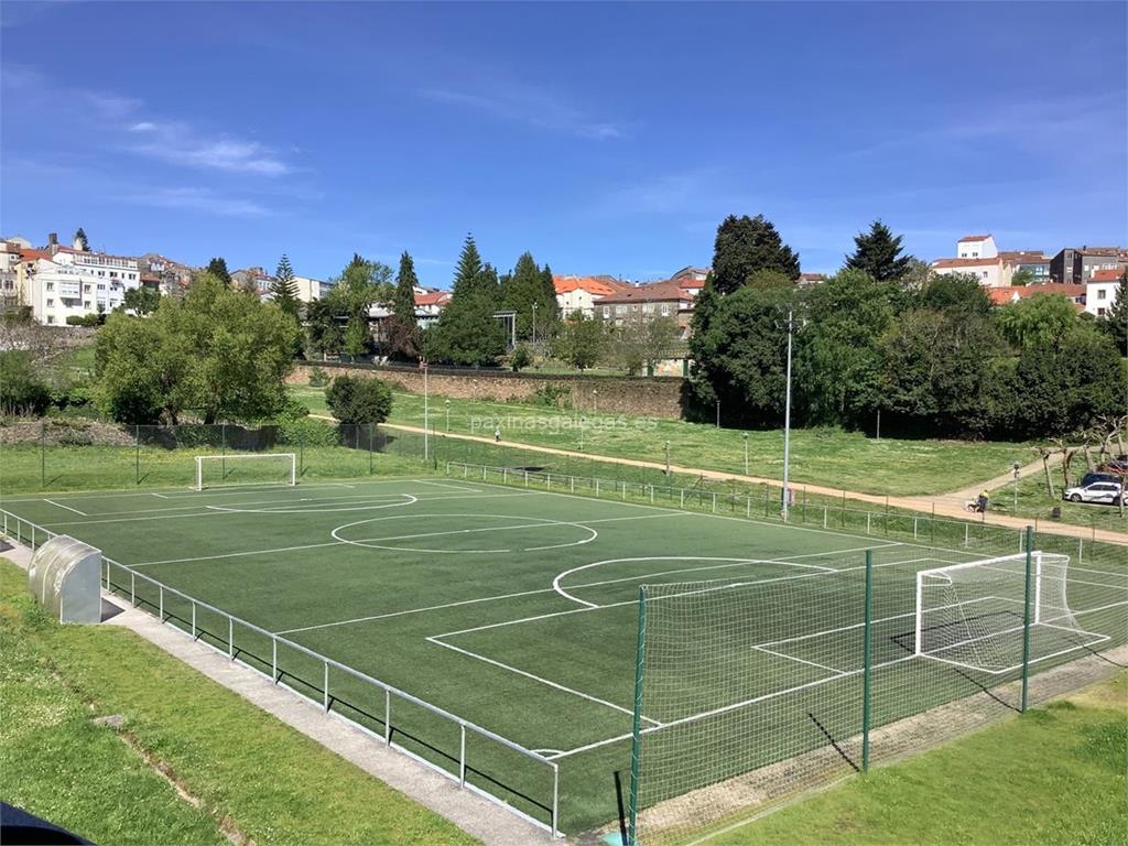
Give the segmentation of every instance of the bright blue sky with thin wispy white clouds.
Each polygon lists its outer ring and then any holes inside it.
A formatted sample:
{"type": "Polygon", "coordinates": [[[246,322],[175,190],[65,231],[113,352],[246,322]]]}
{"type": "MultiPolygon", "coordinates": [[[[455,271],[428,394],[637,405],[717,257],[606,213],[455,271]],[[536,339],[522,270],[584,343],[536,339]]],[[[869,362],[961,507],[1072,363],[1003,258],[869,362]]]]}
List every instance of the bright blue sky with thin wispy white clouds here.
{"type": "Polygon", "coordinates": [[[328,277],[1128,243],[1128,5],[5,2],[0,233],[328,277]]]}

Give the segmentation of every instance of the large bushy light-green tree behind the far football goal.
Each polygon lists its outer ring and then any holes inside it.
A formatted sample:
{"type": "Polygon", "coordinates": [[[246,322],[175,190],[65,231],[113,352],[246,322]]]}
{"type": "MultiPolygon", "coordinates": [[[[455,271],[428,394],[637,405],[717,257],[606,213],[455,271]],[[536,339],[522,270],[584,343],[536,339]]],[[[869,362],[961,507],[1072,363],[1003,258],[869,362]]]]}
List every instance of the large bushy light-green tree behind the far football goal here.
{"type": "Polygon", "coordinates": [[[298,327],[261,302],[203,274],[183,301],[165,297],[148,320],[113,314],[98,332],[99,404],[123,423],[253,422],[285,405],[298,327]]]}

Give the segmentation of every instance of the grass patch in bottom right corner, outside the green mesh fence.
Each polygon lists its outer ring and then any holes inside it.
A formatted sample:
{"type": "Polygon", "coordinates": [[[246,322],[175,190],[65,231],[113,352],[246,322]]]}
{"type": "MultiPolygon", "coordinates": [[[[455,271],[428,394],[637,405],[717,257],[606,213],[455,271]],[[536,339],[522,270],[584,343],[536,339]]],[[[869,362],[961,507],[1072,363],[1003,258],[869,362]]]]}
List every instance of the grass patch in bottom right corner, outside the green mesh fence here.
{"type": "Polygon", "coordinates": [[[712,838],[788,844],[1128,841],[1128,673],[712,838]]]}

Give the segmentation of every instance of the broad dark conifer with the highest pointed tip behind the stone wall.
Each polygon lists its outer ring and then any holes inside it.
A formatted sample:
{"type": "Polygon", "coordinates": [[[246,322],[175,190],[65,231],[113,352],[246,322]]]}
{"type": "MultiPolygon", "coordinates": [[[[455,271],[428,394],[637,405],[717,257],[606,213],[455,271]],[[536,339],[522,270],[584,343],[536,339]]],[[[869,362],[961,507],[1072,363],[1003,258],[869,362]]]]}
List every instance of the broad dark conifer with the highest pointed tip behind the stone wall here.
{"type": "Polygon", "coordinates": [[[493,316],[500,305],[497,272],[482,263],[474,236],[468,235],[455,268],[450,302],[435,327],[438,350],[425,352],[455,364],[494,363],[505,352],[504,328],[493,316]]]}

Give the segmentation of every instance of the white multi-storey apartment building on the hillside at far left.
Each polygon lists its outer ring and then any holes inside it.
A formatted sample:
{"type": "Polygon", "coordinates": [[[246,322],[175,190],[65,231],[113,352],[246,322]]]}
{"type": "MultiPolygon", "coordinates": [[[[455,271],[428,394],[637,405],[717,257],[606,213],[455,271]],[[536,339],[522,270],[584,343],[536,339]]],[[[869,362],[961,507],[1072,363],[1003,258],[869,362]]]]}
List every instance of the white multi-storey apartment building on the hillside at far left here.
{"type": "Polygon", "coordinates": [[[32,307],[32,316],[47,326],[65,326],[68,317],[108,314],[125,301],[125,292],[139,288],[136,261],[94,253],[59,261],[39,258],[30,273],[20,273],[19,297],[32,307]]]}

